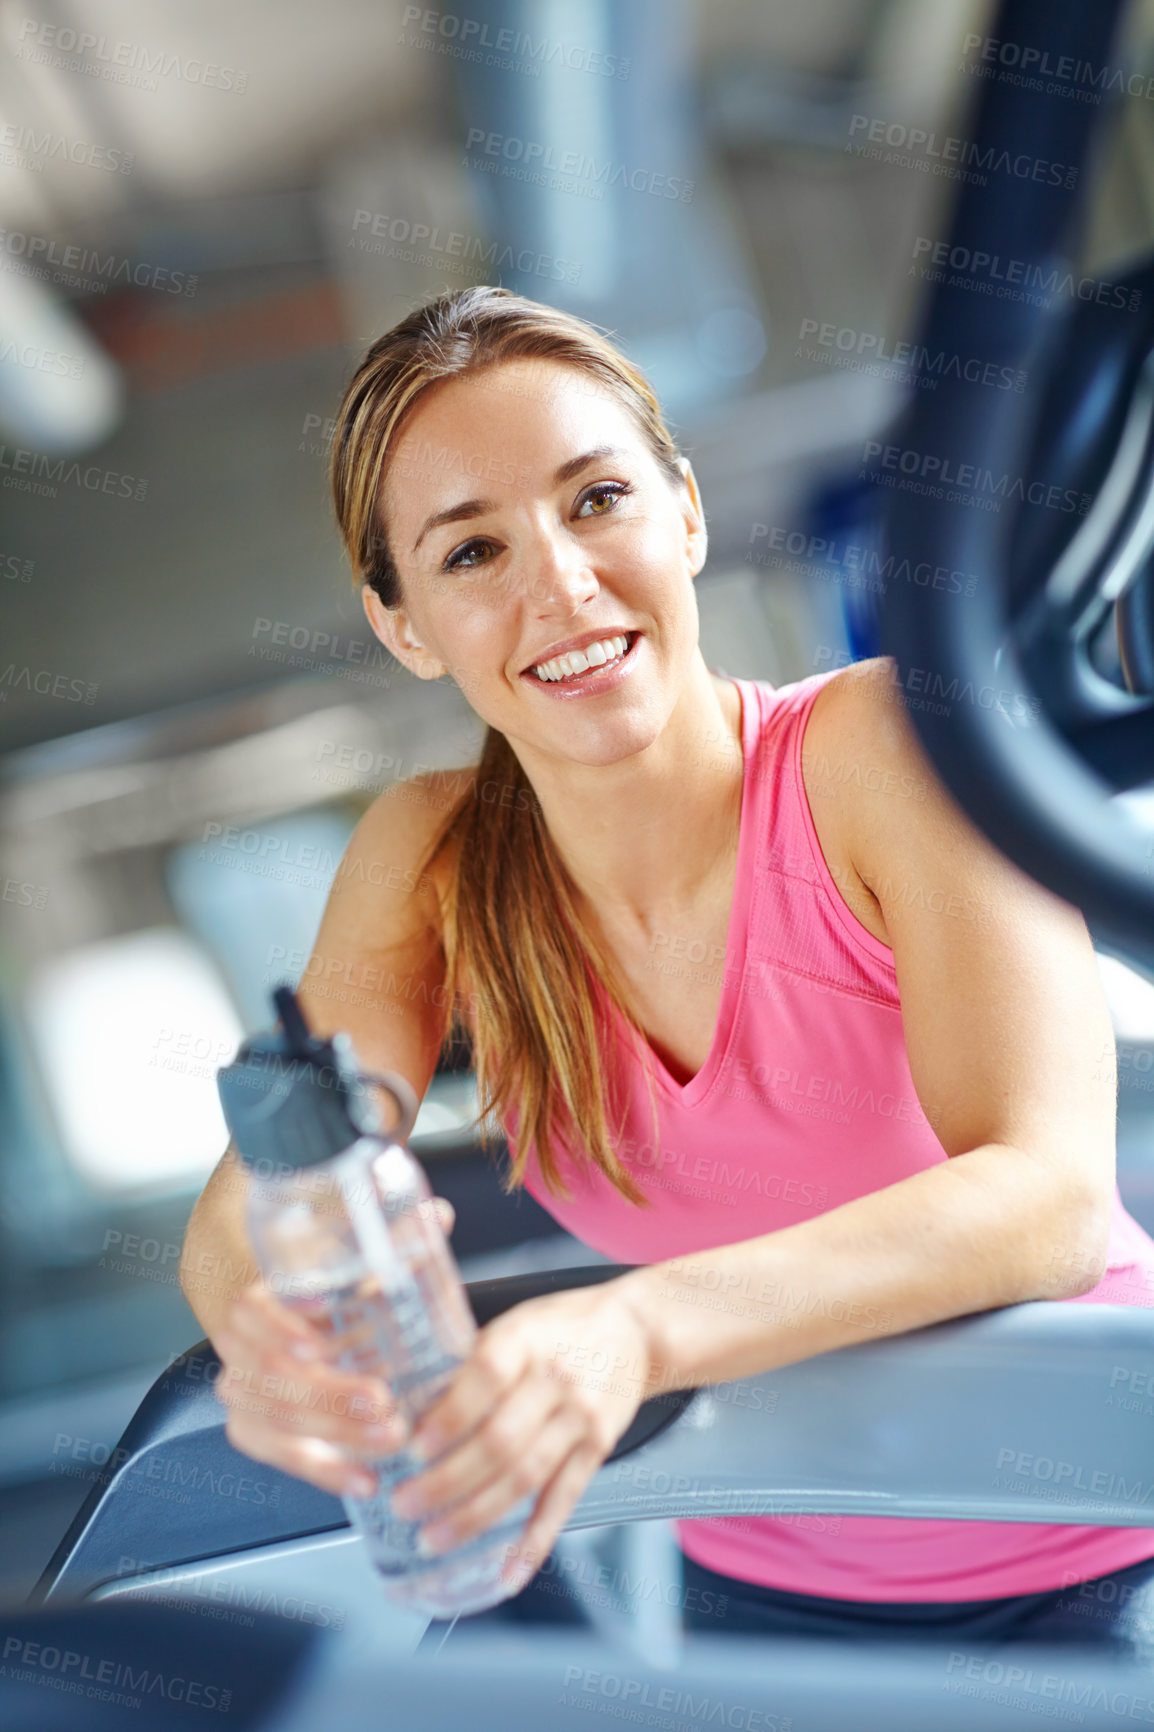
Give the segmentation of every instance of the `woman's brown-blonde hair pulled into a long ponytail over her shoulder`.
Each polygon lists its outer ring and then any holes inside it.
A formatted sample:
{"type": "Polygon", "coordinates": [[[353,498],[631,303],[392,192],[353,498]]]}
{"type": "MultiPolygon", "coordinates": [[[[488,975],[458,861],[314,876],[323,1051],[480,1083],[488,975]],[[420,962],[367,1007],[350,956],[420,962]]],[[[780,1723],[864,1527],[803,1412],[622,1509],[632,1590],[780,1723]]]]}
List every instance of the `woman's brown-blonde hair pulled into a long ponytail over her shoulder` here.
{"type": "MultiPolygon", "coordinates": [[[[619,350],[572,313],[508,289],[445,291],[378,338],[353,372],[336,414],[329,480],[341,539],[357,584],[386,608],[402,585],[383,521],[383,481],[402,423],[440,379],[477,374],[506,360],[553,360],[579,369],[632,416],[671,485],[684,476],[650,383],[619,350]]],[[[457,798],[425,852],[421,869],[454,849],[444,906],[445,992],[442,1041],[461,1025],[470,1001],[482,1117],[518,1110],[516,1152],[504,1188],[525,1181],[528,1141],[554,1197],[568,1197],[554,1157],[565,1138],[626,1197],[648,1207],[624,1167],[610,1131],[619,1050],[601,1025],[598,989],[622,1013],[638,1046],[653,1108],[653,1055],[615,970],[582,928],[575,885],[561,863],[509,741],[487,729],[470,790],[457,798]],[[509,798],[483,798],[499,786],[509,798]]],[[[482,1126],[482,1138],[489,1129],[482,1126]]]]}

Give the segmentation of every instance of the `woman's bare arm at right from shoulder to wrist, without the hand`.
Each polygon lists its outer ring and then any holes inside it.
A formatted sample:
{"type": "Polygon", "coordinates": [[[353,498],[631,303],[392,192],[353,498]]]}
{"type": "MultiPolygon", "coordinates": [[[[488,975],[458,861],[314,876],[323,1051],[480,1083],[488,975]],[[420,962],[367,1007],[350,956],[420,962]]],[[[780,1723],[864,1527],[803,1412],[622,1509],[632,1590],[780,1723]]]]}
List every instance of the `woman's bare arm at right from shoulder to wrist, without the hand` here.
{"type": "Polygon", "coordinates": [[[624,1276],[652,1334],[650,1389],[1088,1292],[1104,1271],[1112,1031],[1081,914],[950,800],[894,701],[889,663],[830,682],[823,700],[827,726],[859,755],[927,783],[922,802],[847,790],[839,826],[889,934],[910,1069],[950,1159],[795,1226],[624,1276]],[[911,883],[927,894],[911,897],[911,883]]]}

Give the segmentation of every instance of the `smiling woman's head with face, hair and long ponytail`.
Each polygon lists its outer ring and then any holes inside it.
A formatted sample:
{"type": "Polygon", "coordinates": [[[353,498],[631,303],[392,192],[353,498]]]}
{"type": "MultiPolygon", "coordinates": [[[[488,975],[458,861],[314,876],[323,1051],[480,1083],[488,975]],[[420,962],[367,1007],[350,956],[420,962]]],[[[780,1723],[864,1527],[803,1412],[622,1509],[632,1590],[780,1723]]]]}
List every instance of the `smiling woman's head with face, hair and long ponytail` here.
{"type": "MultiPolygon", "coordinates": [[[[645,1207],[605,1117],[596,980],[641,1029],[591,914],[596,904],[603,923],[619,901],[652,911],[634,826],[645,805],[660,823],[669,779],[686,781],[703,740],[733,733],[733,688],[712,681],[719,698],[697,646],[705,528],[690,466],[648,383],[596,331],[466,289],[373,345],[336,417],[331,476],[374,630],[421,679],[451,672],[489,722],[473,797],[426,863],[454,863],[447,986],[477,994],[482,1102],[525,1115],[553,1188],[568,1112],[593,1162],[645,1207]],[[487,497],[461,497],[471,476],[487,497]],[[610,873],[575,802],[596,807],[603,831],[620,809],[610,873]]],[[[736,762],[721,785],[695,778],[709,828],[683,856],[693,892],[712,837],[735,824],[736,762]]]]}

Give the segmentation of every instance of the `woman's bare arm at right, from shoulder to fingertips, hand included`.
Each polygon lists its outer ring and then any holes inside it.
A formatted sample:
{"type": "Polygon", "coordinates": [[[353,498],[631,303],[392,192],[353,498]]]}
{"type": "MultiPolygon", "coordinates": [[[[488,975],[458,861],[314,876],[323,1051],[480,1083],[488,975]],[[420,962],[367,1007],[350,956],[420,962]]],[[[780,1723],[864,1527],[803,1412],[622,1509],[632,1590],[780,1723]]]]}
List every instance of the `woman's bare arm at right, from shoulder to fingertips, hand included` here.
{"type": "Polygon", "coordinates": [[[412,1448],[431,1464],[393,1507],[449,1547],[535,1495],[513,1561],[522,1581],[645,1394],[1086,1292],[1102,1268],[1112,1034],[1081,918],[939,788],[892,703],[889,663],[830,681],[814,721],[835,752],[878,772],[847,785],[821,845],[892,946],[913,1082],[948,1159],[797,1226],[494,1318],[421,1417],[412,1448]],[[882,792],[918,783],[924,800],[882,792]],[[924,894],[903,894],[910,885],[924,894]],[[967,908],[981,918],[958,918],[967,908]]]}

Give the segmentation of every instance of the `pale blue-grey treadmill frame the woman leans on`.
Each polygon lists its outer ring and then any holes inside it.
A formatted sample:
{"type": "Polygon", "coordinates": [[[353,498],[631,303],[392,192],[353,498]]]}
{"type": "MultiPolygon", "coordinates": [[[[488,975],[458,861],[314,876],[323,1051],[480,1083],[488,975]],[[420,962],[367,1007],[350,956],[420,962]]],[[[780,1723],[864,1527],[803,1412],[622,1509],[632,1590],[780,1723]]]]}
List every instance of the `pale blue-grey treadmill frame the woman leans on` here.
{"type": "MultiPolygon", "coordinates": [[[[480,1282],[466,1290],[477,1322],[485,1323],[539,1292],[622,1271],[603,1264],[480,1282]]],[[[388,1606],[340,1500],[251,1462],[227,1443],[225,1413],[211,1391],[217,1363],[208,1342],[199,1342],[149,1391],[33,1593],[42,1612],[83,1604],[94,1611],[125,1607],[149,1597],[232,1619],[279,1612],[305,1626],[319,1642],[317,1654],[327,1656],[317,1659],[324,1682],[310,1701],[338,1690],[348,1732],[371,1723],[374,1668],[388,1671],[393,1709],[400,1715],[400,1703],[409,1704],[411,1718],[390,1722],[405,1727],[447,1727],[454,1713],[459,1720],[468,1680],[480,1677],[494,1680],[494,1690],[492,1699],[489,1689],[480,1690],[482,1703],[470,1708],[470,1725],[478,1729],[546,1723],[548,1704],[556,1708],[567,1694],[574,1696],[574,1715],[596,1709],[600,1685],[572,1690],[574,1680],[591,1671],[648,1677],[657,1701],[662,1689],[700,1696],[707,1687],[729,1687],[735,1673],[728,1668],[736,1666],[747,1692],[749,1680],[761,1678],[757,1701],[766,1706],[768,1671],[752,1644],[723,1635],[679,1638],[676,1616],[646,1626],[643,1606],[629,1604],[615,1621],[601,1619],[596,1632],[567,1632],[563,1638],[487,1623],[471,1635],[464,1625],[454,1649],[430,1664],[428,1654],[414,1652],[428,1619],[388,1606]],[[180,1488],[187,1502],[158,1505],[149,1491],[165,1488],[180,1488]],[[717,1645],[729,1656],[721,1670],[717,1645]],[[463,1647],[471,1654],[468,1664],[463,1647]],[[496,1678],[504,1680],[501,1689],[496,1678]]],[[[792,1512],[1154,1526],[1144,1417],[1151,1389],[1154,1315],[1142,1306],[1036,1302],[937,1323],[643,1403],[589,1483],[565,1536],[660,1517],[792,1512]]],[[[818,1645],[825,1656],[830,1644],[818,1645]]],[[[993,1673],[981,1671],[995,1661],[976,1661],[977,1649],[967,1649],[953,1670],[948,1647],[927,1658],[922,1649],[880,1642],[877,1652],[851,1656],[832,1644],[828,1664],[804,1649],[775,1644],[769,1668],[773,1713],[794,1715],[799,1727],[913,1725],[929,1711],[941,1711],[950,1725],[955,1713],[972,1715],[976,1701],[982,1703],[984,1727],[1021,1720],[1014,1692],[996,1701],[1007,1692],[989,1682],[993,1673]],[[870,1678],[877,1722],[861,1718],[854,1677],[870,1678]]],[[[1126,1685],[1126,1666],[1090,1661],[1083,1677],[1071,1671],[1069,1656],[1052,1656],[1047,1664],[1059,1659],[1062,1678],[1083,1678],[1069,1684],[1071,1690],[1099,1690],[1109,1678],[1114,1696],[1123,1687],[1142,1694],[1140,1678],[1126,1685]]],[[[1043,1661],[1045,1654],[1036,1664],[1043,1661]]],[[[1008,1663],[1033,1666],[1034,1658],[1014,1651],[1008,1663]]],[[[379,1692],[381,1671],[376,1675],[379,1692]]],[[[1154,1696],[1154,1675],[1147,1694],[1154,1696]]],[[[1090,1697],[1078,1699],[1085,1711],[1090,1697]]],[[[286,1727],[298,1723],[307,1722],[289,1716],[286,1727]]],[[[1099,1722],[1090,1716],[1081,1723],[1099,1722]]]]}

